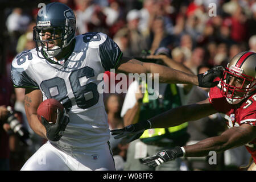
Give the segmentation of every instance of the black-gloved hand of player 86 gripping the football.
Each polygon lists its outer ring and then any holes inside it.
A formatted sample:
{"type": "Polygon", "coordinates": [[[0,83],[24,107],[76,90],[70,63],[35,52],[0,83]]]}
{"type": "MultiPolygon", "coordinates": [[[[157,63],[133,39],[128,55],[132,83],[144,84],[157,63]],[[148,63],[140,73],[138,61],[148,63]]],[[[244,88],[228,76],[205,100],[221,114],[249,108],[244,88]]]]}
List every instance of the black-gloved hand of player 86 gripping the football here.
{"type": "Polygon", "coordinates": [[[64,109],[61,117],[60,109],[57,109],[57,119],[55,123],[49,123],[43,116],[41,116],[41,119],[42,124],[46,127],[46,137],[55,142],[59,141],[69,122],[67,111],[64,109]]]}

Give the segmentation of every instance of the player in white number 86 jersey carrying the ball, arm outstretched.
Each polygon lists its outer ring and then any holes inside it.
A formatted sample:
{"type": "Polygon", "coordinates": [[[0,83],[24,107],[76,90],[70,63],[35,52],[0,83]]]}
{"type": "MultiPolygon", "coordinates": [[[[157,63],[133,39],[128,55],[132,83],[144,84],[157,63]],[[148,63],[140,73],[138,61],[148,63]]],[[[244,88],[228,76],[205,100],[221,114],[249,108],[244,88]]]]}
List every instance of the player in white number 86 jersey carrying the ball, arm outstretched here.
{"type": "Polygon", "coordinates": [[[21,170],[114,170],[109,147],[110,131],[102,94],[100,73],[111,68],[123,73],[159,73],[160,82],[212,87],[222,71],[188,75],[175,69],[123,57],[117,44],[101,32],[75,36],[73,11],[58,2],[39,10],[34,27],[36,48],[19,53],[13,60],[14,86],[26,88],[24,101],[31,129],[48,139],[21,170]],[[63,117],[50,125],[36,110],[55,98],[65,107],[63,117]],[[65,132],[64,132],[65,131],[65,132]]]}

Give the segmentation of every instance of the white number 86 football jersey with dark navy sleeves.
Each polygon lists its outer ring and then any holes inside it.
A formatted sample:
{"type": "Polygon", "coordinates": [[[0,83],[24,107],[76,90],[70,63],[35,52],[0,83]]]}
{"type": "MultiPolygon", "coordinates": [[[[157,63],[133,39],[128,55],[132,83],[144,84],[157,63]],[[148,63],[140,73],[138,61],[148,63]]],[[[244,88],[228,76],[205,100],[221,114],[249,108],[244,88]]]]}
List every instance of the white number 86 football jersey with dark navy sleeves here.
{"type": "Polygon", "coordinates": [[[59,142],[65,148],[93,147],[109,140],[108,117],[97,86],[100,73],[122,57],[117,44],[100,32],[76,36],[71,56],[61,65],[31,49],[17,55],[11,66],[14,86],[39,88],[43,100],[55,98],[68,110],[69,123],[59,142]]]}

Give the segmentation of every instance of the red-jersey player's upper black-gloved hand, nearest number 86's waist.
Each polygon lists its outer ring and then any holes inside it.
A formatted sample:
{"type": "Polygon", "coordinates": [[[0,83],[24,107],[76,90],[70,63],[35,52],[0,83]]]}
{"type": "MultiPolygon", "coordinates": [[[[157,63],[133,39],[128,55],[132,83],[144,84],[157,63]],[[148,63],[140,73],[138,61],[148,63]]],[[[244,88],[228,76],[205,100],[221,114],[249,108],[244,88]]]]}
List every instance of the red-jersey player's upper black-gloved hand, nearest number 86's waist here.
{"type": "Polygon", "coordinates": [[[143,134],[144,130],[150,129],[151,123],[148,120],[135,123],[124,127],[123,129],[111,130],[114,139],[123,138],[122,142],[129,143],[138,139],[143,134]]]}

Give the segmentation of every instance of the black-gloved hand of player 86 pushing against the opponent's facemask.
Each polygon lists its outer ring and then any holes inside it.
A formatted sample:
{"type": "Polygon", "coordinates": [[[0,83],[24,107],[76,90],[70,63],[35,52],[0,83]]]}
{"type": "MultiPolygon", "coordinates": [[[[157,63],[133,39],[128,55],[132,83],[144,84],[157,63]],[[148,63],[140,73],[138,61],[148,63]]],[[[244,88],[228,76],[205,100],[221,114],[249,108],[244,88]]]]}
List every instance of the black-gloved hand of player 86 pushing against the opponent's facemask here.
{"type": "Polygon", "coordinates": [[[217,65],[217,66],[213,67],[212,69],[209,69],[208,71],[197,75],[199,86],[205,87],[205,88],[210,88],[210,87],[214,87],[214,86],[218,85],[219,81],[213,82],[213,80],[216,77],[222,78],[224,70],[225,70],[224,67],[222,67],[221,65],[217,65]]]}

